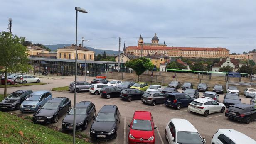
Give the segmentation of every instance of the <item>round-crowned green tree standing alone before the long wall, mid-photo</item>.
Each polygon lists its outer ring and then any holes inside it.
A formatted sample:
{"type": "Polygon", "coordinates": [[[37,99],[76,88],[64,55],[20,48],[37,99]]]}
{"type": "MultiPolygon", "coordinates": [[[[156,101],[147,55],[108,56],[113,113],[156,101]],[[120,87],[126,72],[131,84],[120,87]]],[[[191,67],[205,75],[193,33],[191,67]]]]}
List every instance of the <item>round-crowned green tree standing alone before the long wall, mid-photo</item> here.
{"type": "Polygon", "coordinates": [[[138,80],[140,80],[140,75],[144,73],[144,71],[152,70],[153,69],[153,63],[150,61],[150,59],[145,57],[140,57],[138,59],[133,59],[130,61],[127,61],[125,64],[128,68],[132,68],[136,74],[138,75],[138,80]]]}

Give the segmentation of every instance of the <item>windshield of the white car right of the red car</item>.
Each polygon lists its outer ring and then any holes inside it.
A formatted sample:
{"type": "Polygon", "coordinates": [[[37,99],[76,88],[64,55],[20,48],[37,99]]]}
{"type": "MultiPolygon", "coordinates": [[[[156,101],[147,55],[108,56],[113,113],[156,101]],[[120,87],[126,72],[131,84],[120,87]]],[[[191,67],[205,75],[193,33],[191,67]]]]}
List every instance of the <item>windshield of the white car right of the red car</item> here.
{"type": "Polygon", "coordinates": [[[198,132],[184,132],[184,131],[177,131],[177,143],[204,144],[198,132]]]}

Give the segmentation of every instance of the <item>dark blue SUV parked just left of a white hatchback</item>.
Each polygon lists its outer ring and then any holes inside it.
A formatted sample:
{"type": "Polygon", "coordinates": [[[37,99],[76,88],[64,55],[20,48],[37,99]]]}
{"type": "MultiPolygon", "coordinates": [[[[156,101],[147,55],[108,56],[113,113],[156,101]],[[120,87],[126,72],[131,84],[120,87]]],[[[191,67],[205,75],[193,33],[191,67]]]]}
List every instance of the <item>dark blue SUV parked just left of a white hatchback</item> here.
{"type": "Polygon", "coordinates": [[[192,100],[194,98],[191,98],[185,93],[167,93],[165,96],[165,105],[180,110],[181,107],[188,107],[192,100]]]}

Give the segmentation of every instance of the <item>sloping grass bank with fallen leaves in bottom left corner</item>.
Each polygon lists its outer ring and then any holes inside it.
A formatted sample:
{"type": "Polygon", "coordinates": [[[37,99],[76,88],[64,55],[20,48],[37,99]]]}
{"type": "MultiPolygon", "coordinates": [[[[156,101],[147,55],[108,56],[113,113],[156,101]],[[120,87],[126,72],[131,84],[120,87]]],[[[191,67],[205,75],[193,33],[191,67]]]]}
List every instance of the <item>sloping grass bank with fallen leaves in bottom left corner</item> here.
{"type": "MultiPolygon", "coordinates": [[[[31,120],[22,119],[8,112],[0,112],[1,144],[71,144],[72,136],[34,124],[31,120]]],[[[78,144],[90,144],[76,138],[78,144]]]]}

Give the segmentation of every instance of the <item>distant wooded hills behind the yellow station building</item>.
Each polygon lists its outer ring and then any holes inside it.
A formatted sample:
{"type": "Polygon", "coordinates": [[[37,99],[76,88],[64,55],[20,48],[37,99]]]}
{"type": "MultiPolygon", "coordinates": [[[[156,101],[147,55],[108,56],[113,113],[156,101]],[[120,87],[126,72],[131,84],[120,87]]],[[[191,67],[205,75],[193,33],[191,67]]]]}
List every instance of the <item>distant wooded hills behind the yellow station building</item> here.
{"type": "MultiPolygon", "coordinates": [[[[71,46],[71,44],[54,44],[54,45],[44,45],[49,47],[49,49],[51,49],[52,51],[55,51],[56,49],[58,49],[59,47],[64,47],[64,46],[71,46]]],[[[87,49],[91,50],[91,51],[95,51],[95,54],[102,54],[104,51],[106,51],[106,54],[109,55],[118,55],[118,51],[113,51],[113,50],[104,50],[104,49],[94,49],[92,47],[88,47],[86,46],[87,49]]],[[[121,51],[122,52],[122,51],[121,51]]],[[[120,53],[121,53],[120,52],[120,53]]]]}

